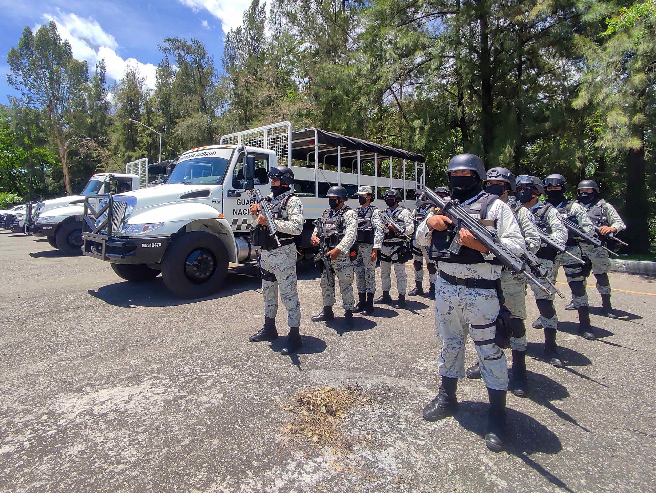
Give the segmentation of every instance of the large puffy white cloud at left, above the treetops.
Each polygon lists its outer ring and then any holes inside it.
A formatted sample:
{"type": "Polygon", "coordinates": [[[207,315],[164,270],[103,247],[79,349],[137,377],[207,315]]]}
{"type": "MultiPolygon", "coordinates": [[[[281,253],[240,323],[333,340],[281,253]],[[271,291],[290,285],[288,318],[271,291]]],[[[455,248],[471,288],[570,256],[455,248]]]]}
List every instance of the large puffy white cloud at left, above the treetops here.
{"type": "MultiPolygon", "coordinates": [[[[79,60],[87,60],[91,70],[96,62],[104,58],[108,77],[118,81],[123,78],[128,66],[136,67],[142,77],[146,77],[148,88],[155,89],[156,67],[150,63],[144,64],[136,58],[124,59],[119,56],[116,53],[119,47],[116,39],[105,32],[98,21],[91,17],[85,19],[75,14],[64,14],[59,10],[56,15],[43,14],[43,19],[47,22],[54,20],[59,35],[71,43],[73,56],[79,60]]],[[[39,26],[36,26],[35,29],[38,28],[39,26]]]]}

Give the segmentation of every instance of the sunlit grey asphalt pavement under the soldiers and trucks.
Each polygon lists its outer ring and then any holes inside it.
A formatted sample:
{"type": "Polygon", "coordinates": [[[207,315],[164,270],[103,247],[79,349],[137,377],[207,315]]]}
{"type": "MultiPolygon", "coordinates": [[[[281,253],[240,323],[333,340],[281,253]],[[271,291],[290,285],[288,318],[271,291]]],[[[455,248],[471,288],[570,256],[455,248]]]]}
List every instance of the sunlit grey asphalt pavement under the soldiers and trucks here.
{"type": "MultiPolygon", "coordinates": [[[[358,316],[344,332],[339,320],[310,322],[322,303],[305,268],[304,347],[290,358],[283,338],[248,342],[264,320],[249,268],[231,269],[215,297],[184,301],[161,278],[129,284],[106,263],[6,231],[0,266],[2,492],[656,490],[656,278],[611,274],[623,318],[593,308],[594,342],[558,300],[565,368],[541,360],[542,331],[528,329],[533,393],[508,395],[513,436],[493,454],[482,381],[461,381],[457,416],[421,418],[440,382],[428,299],[358,316]],[[283,406],[321,385],[376,398],[342,423],[351,452],[283,436],[283,406]]],[[[527,305],[530,327],[537,310],[527,305]]]]}

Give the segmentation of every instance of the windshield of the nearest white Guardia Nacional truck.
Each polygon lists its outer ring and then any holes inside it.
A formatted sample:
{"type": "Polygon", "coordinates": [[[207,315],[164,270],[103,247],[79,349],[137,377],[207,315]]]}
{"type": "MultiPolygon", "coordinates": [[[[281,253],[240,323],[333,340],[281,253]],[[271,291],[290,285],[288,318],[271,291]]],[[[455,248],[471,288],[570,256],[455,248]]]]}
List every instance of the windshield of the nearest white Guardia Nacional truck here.
{"type": "Polygon", "coordinates": [[[167,183],[220,183],[226,176],[232,149],[213,149],[182,156],[167,183]]]}

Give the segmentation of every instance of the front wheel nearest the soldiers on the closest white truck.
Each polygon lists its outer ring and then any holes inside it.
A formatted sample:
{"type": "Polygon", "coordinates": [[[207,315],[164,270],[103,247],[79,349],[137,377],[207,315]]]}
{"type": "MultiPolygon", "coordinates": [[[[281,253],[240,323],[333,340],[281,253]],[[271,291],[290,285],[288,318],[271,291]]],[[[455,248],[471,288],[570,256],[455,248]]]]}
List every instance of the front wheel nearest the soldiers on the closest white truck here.
{"type": "Polygon", "coordinates": [[[178,236],[162,259],[162,278],[173,293],[202,298],[218,291],[228,274],[228,251],[214,234],[192,231],[178,236]]]}

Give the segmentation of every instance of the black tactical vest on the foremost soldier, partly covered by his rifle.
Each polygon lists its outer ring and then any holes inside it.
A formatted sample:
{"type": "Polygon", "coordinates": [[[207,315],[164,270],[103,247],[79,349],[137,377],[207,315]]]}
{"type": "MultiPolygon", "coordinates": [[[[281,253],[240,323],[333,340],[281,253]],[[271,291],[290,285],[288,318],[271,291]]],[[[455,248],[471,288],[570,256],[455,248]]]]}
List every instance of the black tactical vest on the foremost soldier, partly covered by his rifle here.
{"type": "MultiPolygon", "coordinates": [[[[489,210],[490,205],[492,205],[497,199],[499,199],[498,195],[482,192],[474,202],[466,205],[461,204],[461,207],[472,216],[476,217],[476,219],[487,219],[487,211],[489,210]]],[[[445,231],[433,230],[430,236],[428,256],[433,260],[454,264],[482,264],[485,262],[496,265],[501,264],[496,257],[491,261],[487,261],[480,251],[464,245],[462,246],[460,253],[457,255],[451,253],[448,251],[448,248],[451,246],[455,234],[456,232],[451,228],[447,228],[445,231]]]]}

